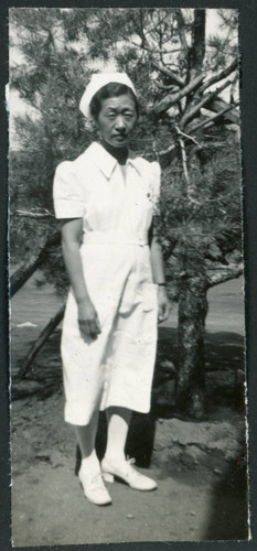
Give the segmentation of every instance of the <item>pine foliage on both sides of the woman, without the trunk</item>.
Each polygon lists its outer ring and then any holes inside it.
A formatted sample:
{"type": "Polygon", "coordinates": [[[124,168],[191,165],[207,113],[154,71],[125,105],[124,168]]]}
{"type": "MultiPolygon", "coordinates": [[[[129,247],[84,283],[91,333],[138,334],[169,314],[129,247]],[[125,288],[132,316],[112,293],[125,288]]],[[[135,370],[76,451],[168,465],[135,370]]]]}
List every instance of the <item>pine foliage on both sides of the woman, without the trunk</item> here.
{"type": "MultiPolygon", "coordinates": [[[[226,33],[208,39],[205,71],[214,56],[215,72],[235,55],[232,39],[236,12],[221,10],[219,14],[226,33]],[[223,60],[218,57],[219,51],[223,60]]],[[[109,60],[128,72],[138,89],[140,121],[132,148],[149,160],[159,159],[164,168],[161,229],[167,250],[173,250],[175,244],[173,256],[178,256],[178,244],[185,241],[192,227],[194,231],[197,227],[196,241],[204,246],[208,261],[210,250],[215,247],[219,250],[217,253],[215,249],[216,257],[224,261],[228,252],[240,248],[238,155],[237,145],[235,149],[232,143],[233,132],[222,132],[218,127],[210,138],[201,134],[199,147],[186,142],[192,188],[189,201],[191,192],[183,180],[175,128],[182,111],[200,96],[196,99],[189,96],[160,116],[154,114],[154,105],[178,88],[169,74],[156,68],[157,64],[175,71],[176,78],[189,79],[193,15],[194,10],[164,8],[11,10],[11,36],[21,52],[21,62],[11,66],[11,86],[33,108],[15,117],[19,147],[10,155],[14,261],[39,247],[56,228],[53,217],[35,224],[33,219],[15,216],[17,210],[36,208],[53,214],[52,182],[56,165],[64,159],[76,158],[96,137],[77,106],[99,60],[104,63],[109,60]],[[167,163],[159,152],[173,143],[175,159],[167,163]]],[[[60,250],[50,250],[49,258],[45,277],[60,289],[60,282],[65,280],[60,250]]],[[[174,264],[172,258],[170,263],[174,264]]]]}

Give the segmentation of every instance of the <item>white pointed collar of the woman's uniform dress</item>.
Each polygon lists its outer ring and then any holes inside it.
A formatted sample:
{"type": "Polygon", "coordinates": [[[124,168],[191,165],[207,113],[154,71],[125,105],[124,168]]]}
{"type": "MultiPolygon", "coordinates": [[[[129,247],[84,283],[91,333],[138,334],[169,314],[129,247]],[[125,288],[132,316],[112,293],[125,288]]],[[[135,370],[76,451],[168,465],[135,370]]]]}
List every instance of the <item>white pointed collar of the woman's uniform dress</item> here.
{"type": "MultiPolygon", "coordinates": [[[[90,155],[90,160],[98,166],[98,169],[104,173],[104,175],[109,180],[115,166],[118,164],[118,161],[110,154],[106,149],[96,141],[93,142],[87,152],[90,155]]],[[[129,150],[127,164],[131,164],[141,175],[138,158],[135,155],[132,151],[129,150]]]]}

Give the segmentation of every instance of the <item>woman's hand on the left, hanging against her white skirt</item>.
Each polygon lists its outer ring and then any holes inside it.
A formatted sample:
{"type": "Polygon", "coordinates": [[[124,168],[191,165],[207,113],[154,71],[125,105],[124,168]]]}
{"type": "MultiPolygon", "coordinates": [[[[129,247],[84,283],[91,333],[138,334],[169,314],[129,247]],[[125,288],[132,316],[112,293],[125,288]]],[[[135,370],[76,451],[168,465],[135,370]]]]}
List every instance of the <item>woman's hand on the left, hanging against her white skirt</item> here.
{"type": "Polygon", "coordinates": [[[100,333],[98,315],[90,299],[85,299],[77,306],[78,326],[82,338],[88,343],[88,339],[95,341],[100,333]]]}

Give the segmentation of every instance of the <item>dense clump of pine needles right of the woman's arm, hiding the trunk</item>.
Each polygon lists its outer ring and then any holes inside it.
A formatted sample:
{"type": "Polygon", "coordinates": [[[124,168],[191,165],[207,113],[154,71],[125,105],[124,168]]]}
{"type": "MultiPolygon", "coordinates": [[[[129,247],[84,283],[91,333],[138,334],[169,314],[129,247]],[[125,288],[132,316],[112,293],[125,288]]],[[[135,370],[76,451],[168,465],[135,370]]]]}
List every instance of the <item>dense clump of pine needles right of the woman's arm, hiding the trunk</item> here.
{"type": "Polygon", "coordinates": [[[175,159],[164,172],[160,202],[160,233],[163,249],[172,250],[168,279],[178,294],[182,255],[190,244],[191,262],[197,250],[204,255],[205,270],[226,266],[242,258],[242,195],[238,143],[231,130],[212,131],[204,147],[193,147],[189,166],[193,194],[189,202],[181,179],[181,162],[175,159]],[[194,237],[194,239],[193,239],[194,237]],[[233,256],[232,256],[233,253],[233,256]]]}

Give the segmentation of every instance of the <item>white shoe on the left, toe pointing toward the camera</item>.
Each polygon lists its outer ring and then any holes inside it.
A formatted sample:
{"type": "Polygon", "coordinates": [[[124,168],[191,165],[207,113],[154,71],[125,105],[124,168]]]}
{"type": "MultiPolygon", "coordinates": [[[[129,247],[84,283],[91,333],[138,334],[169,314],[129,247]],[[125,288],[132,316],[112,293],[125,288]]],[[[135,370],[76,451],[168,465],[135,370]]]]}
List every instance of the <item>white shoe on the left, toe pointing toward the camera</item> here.
{"type": "Polygon", "coordinates": [[[95,505],[111,504],[111,497],[105,487],[100,471],[86,471],[81,467],[78,478],[88,501],[95,505]]]}

